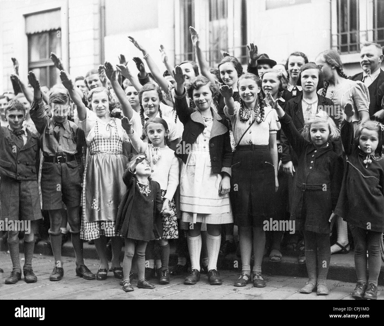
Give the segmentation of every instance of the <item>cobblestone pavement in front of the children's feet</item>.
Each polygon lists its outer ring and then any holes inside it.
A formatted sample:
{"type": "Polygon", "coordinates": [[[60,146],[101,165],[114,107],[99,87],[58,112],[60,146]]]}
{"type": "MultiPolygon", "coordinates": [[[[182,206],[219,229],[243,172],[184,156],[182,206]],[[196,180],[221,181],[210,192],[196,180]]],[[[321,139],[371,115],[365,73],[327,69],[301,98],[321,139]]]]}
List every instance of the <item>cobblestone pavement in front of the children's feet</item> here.
{"type": "MultiPolygon", "coordinates": [[[[20,257],[23,257],[20,254],[20,257]]],[[[23,262],[21,262],[23,265],[23,262]]],[[[96,273],[98,269],[97,260],[86,260],[89,269],[96,273]]],[[[330,294],[328,296],[317,296],[316,293],[309,295],[300,294],[298,291],[305,284],[306,279],[302,277],[288,277],[265,275],[267,286],[265,288],[253,288],[252,284],[237,288],[233,282],[238,277],[237,271],[220,271],[223,284],[220,286],[209,285],[207,275],[202,275],[200,282],[196,285],[184,285],[184,277],[171,277],[169,285],[156,285],[153,290],[144,290],[136,287],[137,280],[133,280],[133,292],[125,293],[119,285],[119,280],[108,274],[105,281],[91,280],[76,277],[75,260],[71,257],[63,257],[64,278],[60,282],[50,282],[49,275],[53,270],[53,257],[35,255],[33,269],[38,277],[37,283],[27,284],[20,280],[15,285],[4,285],[4,278],[12,270],[9,254],[0,252],[0,267],[4,273],[0,273],[0,300],[12,299],[139,299],[139,300],[353,300],[351,292],[354,283],[328,280],[330,294]],[[2,275],[2,276],[1,276],[2,275]]],[[[379,298],[382,286],[379,286],[379,298]]]]}

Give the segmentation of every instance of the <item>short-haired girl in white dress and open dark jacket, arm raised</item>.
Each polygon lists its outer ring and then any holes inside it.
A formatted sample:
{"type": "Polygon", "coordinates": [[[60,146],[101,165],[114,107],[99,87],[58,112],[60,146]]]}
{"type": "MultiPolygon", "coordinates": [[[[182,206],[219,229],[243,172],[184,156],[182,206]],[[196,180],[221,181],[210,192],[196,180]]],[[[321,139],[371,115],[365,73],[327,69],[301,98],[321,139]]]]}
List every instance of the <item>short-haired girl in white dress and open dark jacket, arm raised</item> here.
{"type": "Polygon", "coordinates": [[[180,210],[182,221],[193,223],[187,240],[192,267],[184,284],[196,284],[200,279],[201,226],[206,223],[208,280],[211,285],[220,285],[222,280],[217,271],[220,224],[233,222],[228,195],[232,163],[229,130],[211,107],[217,94],[216,84],[199,76],[185,90],[182,69],[176,66],[173,74],[175,109],[184,124],[182,142],[176,150],[182,160],[180,210]],[[194,100],[197,110],[188,106],[186,93],[194,100]]]}

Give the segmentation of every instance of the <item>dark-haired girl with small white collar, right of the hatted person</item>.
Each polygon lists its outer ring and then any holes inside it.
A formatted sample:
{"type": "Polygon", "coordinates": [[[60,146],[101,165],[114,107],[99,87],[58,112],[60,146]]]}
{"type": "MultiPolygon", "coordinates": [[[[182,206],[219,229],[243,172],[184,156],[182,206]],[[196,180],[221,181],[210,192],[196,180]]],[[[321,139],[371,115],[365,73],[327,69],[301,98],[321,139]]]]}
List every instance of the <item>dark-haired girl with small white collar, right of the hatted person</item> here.
{"type": "Polygon", "coordinates": [[[300,82],[300,68],[308,63],[308,58],[303,52],[293,52],[288,56],[285,70],[289,75],[288,88],[283,93],[285,101],[302,94],[303,89],[300,82]]]}

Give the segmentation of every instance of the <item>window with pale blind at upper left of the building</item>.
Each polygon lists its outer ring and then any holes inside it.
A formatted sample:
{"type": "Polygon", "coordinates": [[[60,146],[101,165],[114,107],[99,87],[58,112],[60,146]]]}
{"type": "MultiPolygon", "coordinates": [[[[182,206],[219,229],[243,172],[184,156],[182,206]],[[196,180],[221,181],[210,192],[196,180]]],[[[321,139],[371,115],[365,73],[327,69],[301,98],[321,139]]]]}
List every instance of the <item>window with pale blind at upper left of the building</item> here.
{"type": "Polygon", "coordinates": [[[60,82],[51,52],[61,57],[60,10],[39,12],[25,17],[28,37],[28,70],[33,71],[41,86],[52,87],[60,82]]]}

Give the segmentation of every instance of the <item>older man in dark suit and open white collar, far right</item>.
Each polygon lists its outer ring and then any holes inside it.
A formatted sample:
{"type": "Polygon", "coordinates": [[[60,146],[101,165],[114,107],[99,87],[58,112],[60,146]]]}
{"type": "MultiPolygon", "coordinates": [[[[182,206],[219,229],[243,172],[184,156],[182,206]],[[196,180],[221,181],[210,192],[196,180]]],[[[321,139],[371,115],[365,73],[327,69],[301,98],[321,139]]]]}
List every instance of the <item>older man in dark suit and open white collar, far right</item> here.
{"type": "Polygon", "coordinates": [[[360,65],[362,72],[352,77],[354,81],[362,81],[369,91],[369,116],[374,120],[384,120],[384,109],[381,108],[381,101],[384,95],[384,71],[380,68],[383,61],[381,45],[366,42],[361,46],[360,65]]]}

